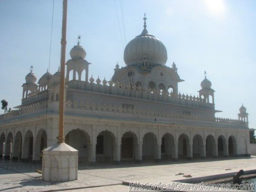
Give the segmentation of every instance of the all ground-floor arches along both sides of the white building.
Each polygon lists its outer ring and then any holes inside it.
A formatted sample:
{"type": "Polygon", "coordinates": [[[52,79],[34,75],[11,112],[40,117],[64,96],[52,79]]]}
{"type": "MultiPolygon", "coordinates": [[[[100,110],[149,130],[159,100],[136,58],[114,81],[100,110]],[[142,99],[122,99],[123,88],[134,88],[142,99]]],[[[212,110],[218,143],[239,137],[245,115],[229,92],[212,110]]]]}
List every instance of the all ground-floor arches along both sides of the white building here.
{"type": "MultiPolygon", "coordinates": [[[[100,132],[93,142],[86,131],[76,129],[66,135],[65,142],[78,150],[79,162],[116,161],[117,153],[120,153],[120,160],[170,160],[237,155],[237,141],[234,136],[229,136],[226,141],[223,135],[217,140],[214,136],[208,135],[204,140],[200,134],[190,139],[183,133],[175,142],[175,137],[170,133],[164,134],[158,141],[154,133],[147,132],[139,141],[137,135],[129,131],[120,139],[118,146],[115,135],[106,130],[100,132]]],[[[40,153],[46,147],[45,130],[40,130],[35,138],[30,130],[24,138],[20,131],[14,138],[11,132],[7,137],[4,133],[0,136],[0,155],[4,155],[5,159],[40,160],[40,153]]],[[[244,150],[246,151],[246,146],[244,150]]]]}

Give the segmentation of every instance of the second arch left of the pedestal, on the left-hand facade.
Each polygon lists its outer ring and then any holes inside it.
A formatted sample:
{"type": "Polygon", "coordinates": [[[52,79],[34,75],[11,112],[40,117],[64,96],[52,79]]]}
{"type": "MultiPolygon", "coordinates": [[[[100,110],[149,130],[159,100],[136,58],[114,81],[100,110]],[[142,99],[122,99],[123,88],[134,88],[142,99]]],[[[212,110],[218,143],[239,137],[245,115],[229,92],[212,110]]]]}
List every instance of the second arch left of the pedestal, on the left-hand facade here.
{"type": "Polygon", "coordinates": [[[25,135],[24,150],[23,150],[23,161],[33,160],[33,143],[34,138],[32,132],[29,130],[25,135]]]}

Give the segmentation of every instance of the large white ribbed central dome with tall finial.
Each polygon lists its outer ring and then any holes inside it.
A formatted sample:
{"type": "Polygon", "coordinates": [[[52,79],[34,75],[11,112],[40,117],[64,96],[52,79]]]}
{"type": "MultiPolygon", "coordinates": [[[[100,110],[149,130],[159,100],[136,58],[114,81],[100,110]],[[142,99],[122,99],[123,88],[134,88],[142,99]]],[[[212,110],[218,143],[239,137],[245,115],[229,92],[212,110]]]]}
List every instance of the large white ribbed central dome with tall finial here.
{"type": "Polygon", "coordinates": [[[127,44],[123,53],[123,60],[127,66],[142,63],[144,59],[149,64],[162,66],[167,61],[165,46],[158,38],[148,34],[145,22],[142,33],[127,44]]]}

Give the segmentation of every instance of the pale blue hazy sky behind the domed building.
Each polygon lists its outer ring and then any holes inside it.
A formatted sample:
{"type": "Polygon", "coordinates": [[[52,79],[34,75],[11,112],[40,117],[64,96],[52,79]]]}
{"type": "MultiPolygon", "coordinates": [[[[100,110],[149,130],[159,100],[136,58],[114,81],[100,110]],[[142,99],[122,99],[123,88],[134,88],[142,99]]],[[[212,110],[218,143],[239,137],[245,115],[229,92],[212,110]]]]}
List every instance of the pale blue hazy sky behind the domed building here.
{"type": "MultiPolygon", "coordinates": [[[[89,76],[110,80],[116,62],[125,66],[124,48],[143,30],[146,13],[148,32],[167,49],[166,66],[175,61],[185,80],[179,83],[181,94],[197,96],[206,71],[216,91],[215,108],[223,111],[216,116],[237,119],[243,103],[249,127],[256,129],[255,10],[254,0],[68,1],[66,60],[81,35],[92,63],[89,76]]],[[[37,81],[47,68],[52,74],[58,70],[61,19],[60,0],[0,1],[0,99],[10,108],[21,103],[30,66],[37,81]]]]}

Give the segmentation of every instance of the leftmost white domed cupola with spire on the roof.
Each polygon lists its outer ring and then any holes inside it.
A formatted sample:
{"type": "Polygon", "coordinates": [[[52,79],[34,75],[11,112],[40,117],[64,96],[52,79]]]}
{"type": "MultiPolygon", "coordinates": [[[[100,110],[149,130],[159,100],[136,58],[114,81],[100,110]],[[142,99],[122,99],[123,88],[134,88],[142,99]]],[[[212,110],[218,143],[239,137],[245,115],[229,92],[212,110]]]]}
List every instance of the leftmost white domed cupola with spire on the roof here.
{"type": "Polygon", "coordinates": [[[22,99],[27,98],[29,93],[37,90],[36,76],[33,73],[33,66],[30,67],[30,73],[25,77],[26,83],[23,84],[23,96],[22,99]]]}

